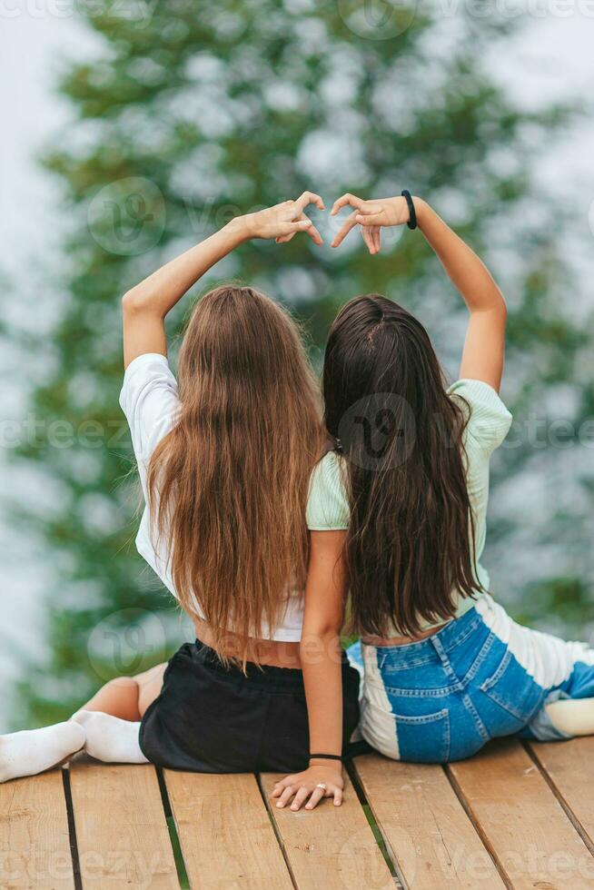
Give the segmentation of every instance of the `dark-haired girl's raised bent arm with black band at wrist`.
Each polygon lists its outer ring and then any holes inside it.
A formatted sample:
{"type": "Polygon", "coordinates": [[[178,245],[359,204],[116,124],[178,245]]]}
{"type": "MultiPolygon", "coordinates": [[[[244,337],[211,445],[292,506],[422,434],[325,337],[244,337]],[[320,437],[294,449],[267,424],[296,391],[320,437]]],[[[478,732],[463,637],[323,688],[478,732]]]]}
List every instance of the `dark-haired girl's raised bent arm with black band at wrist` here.
{"type": "MultiPolygon", "coordinates": [[[[489,383],[499,391],[505,347],[506,306],[503,295],[489,270],[468,244],[444,223],[421,198],[413,198],[417,223],[460,292],[470,312],[460,377],[489,383]]],[[[381,226],[402,225],[410,219],[409,207],[403,197],[363,201],[346,194],[334,204],[332,213],[349,205],[353,213],[337,233],[337,247],[351,229],[360,224],[365,243],[371,253],[381,250],[381,226]]]]}

